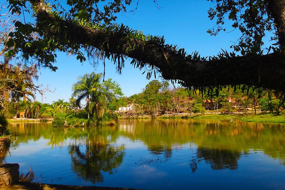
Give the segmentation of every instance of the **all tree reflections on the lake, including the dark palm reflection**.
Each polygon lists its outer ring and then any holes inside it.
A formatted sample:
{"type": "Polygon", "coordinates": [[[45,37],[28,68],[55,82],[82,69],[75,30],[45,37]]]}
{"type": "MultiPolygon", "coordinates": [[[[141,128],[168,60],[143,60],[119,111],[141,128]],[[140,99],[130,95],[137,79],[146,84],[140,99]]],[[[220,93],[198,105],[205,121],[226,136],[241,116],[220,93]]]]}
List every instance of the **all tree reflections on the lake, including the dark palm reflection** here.
{"type": "Polygon", "coordinates": [[[50,123],[18,123],[11,124],[10,131],[12,148],[22,150],[23,143],[29,145],[41,140],[47,141],[49,149],[66,148],[71,169],[78,178],[92,183],[103,182],[106,174],[114,174],[124,162],[130,169],[135,167],[137,160],[124,160],[126,151],[133,151],[132,145],[138,142],[137,157],[159,156],[166,162],[173,159],[178,163],[186,157],[192,173],[200,171],[204,163],[211,170],[236,170],[240,159],[252,152],[262,152],[270,159],[278,159],[280,164],[285,163],[282,124],[142,119],[122,120],[112,127],[72,129],[53,128],[50,123]],[[144,154],[145,149],[148,155],[144,154]],[[182,150],[192,153],[185,154],[182,150]]]}

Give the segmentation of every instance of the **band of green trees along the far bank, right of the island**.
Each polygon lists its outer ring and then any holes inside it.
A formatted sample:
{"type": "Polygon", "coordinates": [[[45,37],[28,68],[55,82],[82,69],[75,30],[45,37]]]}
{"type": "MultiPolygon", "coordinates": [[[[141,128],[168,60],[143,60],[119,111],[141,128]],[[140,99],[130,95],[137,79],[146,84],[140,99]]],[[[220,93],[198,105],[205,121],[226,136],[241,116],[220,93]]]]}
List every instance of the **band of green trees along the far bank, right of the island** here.
{"type": "Polygon", "coordinates": [[[170,88],[167,81],[150,81],[143,91],[129,97],[122,97],[112,103],[112,107],[133,107],[121,115],[161,115],[178,113],[232,113],[238,112],[246,115],[249,112],[271,112],[279,115],[284,104],[278,99],[278,94],[272,91],[261,91],[254,87],[248,91],[227,88],[219,95],[202,94],[199,91],[189,91],[185,88],[170,88]]]}

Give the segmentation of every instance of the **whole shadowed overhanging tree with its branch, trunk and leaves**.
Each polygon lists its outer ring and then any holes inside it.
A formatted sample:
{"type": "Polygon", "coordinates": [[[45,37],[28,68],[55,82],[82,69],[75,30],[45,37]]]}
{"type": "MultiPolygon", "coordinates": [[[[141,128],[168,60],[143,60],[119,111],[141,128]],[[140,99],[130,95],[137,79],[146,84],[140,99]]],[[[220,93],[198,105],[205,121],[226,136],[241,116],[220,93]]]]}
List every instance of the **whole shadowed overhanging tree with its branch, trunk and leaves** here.
{"type": "MultiPolygon", "coordinates": [[[[187,54],[184,48],[165,43],[164,37],[145,35],[123,24],[111,24],[116,13],[127,12],[132,0],[106,3],[92,0],[66,1],[71,8],[65,10],[45,0],[9,0],[12,12],[34,12],[36,23],[15,22],[16,31],[10,34],[7,56],[18,55],[25,59],[36,58],[44,66],[53,66],[56,51],[77,56],[80,62],[88,56],[110,59],[118,71],[131,58],[134,67],[148,67],[147,78],[160,72],[164,79],[178,80],[187,87],[202,93],[218,94],[226,85],[245,84],[276,91],[285,91],[285,9],[284,0],[210,0],[208,14],[216,19],[216,27],[208,30],[211,35],[225,31],[225,17],[232,20],[232,28],[241,32],[238,43],[232,45],[235,52],[223,51],[217,56],[201,57],[198,53],[187,54]],[[29,3],[31,7],[27,8],[29,3]],[[103,4],[100,11],[98,4],[103,4]],[[102,24],[99,24],[103,21],[102,24]],[[276,41],[263,52],[266,32],[276,41]],[[37,33],[37,37],[34,34],[37,33]],[[236,53],[240,52],[240,53],[236,53]]],[[[135,1],[138,2],[138,1],[135,1]]],[[[156,3],[156,0],[154,1],[156,3]]],[[[64,5],[63,2],[61,4],[64,5]]],[[[189,7],[191,9],[191,7],[189,7]]],[[[104,62],[105,63],[105,62],[104,62]]]]}

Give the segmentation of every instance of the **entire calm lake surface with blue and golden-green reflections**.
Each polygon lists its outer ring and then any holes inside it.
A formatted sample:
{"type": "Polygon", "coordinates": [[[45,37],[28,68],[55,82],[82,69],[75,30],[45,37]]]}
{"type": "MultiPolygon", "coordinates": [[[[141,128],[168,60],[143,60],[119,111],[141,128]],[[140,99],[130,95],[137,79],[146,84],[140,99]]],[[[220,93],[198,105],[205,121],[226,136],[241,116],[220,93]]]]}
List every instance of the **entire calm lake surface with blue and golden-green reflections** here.
{"type": "Polygon", "coordinates": [[[285,125],[190,119],[10,125],[3,163],[35,182],[140,189],[285,189],[285,125]]]}

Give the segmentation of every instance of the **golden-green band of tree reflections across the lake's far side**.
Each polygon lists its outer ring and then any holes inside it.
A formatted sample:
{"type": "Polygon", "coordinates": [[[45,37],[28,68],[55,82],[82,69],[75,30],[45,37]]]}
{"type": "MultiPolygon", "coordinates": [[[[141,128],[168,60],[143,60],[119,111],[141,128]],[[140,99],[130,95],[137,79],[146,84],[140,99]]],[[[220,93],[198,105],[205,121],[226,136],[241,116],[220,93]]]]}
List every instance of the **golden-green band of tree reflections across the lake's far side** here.
{"type": "MultiPolygon", "coordinates": [[[[239,121],[229,123],[229,121],[191,119],[137,119],[121,120],[119,126],[84,129],[81,127],[53,128],[47,123],[21,123],[10,126],[10,132],[14,138],[12,147],[17,146],[18,143],[36,141],[40,138],[49,140],[50,147],[61,146],[67,142],[67,139],[72,139],[77,141],[74,147],[70,146],[74,151],[73,156],[76,155],[75,146],[79,146],[78,150],[84,153],[85,148],[83,149],[78,142],[81,144],[83,142],[85,147],[86,139],[91,145],[88,152],[96,153],[96,151],[104,152],[104,150],[106,153],[108,150],[116,152],[116,148],[112,149],[108,144],[115,142],[119,136],[123,136],[133,141],[143,142],[150,153],[164,155],[166,160],[172,156],[173,149],[189,146],[195,149],[197,147],[197,156],[189,158],[193,170],[197,169],[197,164],[199,166],[199,160],[201,160],[199,158],[205,159],[213,169],[234,169],[237,167],[239,155],[249,151],[263,151],[265,155],[285,163],[284,124],[239,121]],[[97,142],[98,145],[93,142],[97,142]]],[[[113,157],[118,157],[118,155],[114,154],[113,157]]]]}

